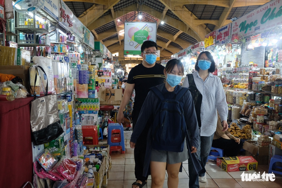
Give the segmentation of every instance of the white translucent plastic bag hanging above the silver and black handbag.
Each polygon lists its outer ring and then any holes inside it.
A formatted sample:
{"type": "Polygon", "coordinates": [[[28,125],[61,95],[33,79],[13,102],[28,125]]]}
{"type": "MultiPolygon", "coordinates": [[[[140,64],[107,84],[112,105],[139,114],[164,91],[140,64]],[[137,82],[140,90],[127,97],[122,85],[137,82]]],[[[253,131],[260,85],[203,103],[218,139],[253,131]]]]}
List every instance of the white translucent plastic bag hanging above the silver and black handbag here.
{"type": "MultiPolygon", "coordinates": [[[[50,58],[43,57],[43,56],[34,56],[32,58],[32,60],[33,60],[33,63],[36,66],[42,67],[43,70],[46,73],[46,75],[45,75],[43,73],[43,71],[40,71],[41,80],[42,80],[42,83],[43,83],[44,87],[47,84],[47,78],[48,78],[48,94],[56,94],[55,86],[54,86],[54,76],[53,76],[52,60],[50,58]]],[[[40,87],[42,87],[41,84],[40,84],[40,87]]],[[[40,88],[40,94],[44,94],[43,93],[43,88],[40,88]]]]}

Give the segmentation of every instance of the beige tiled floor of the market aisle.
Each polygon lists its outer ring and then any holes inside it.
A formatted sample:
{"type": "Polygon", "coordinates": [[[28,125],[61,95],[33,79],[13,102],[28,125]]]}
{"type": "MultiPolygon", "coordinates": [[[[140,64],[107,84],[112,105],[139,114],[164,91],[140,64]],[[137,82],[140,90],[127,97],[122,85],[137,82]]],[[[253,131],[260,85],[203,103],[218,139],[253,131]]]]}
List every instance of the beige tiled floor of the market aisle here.
{"type": "MultiPolygon", "coordinates": [[[[104,140],[103,140],[104,141],[104,140]]],[[[132,183],[136,180],[134,175],[134,149],[130,148],[129,140],[125,140],[126,149],[125,154],[120,152],[113,152],[112,158],[112,169],[110,170],[108,179],[108,188],[131,188],[132,183]]],[[[189,183],[188,173],[188,162],[183,162],[183,171],[179,173],[179,188],[187,188],[189,183]]],[[[268,165],[259,165],[256,171],[246,171],[247,173],[258,173],[262,174],[264,171],[268,172],[268,165]]],[[[218,166],[215,161],[209,160],[206,165],[207,183],[201,183],[200,187],[207,188],[279,188],[282,187],[282,176],[275,174],[275,181],[260,181],[260,182],[247,182],[241,180],[242,172],[225,172],[218,166]]],[[[145,186],[146,187],[146,186],[145,186]]],[[[151,187],[151,177],[148,178],[147,187],[151,187]]],[[[167,173],[165,175],[165,182],[163,185],[167,188],[167,173]]]]}

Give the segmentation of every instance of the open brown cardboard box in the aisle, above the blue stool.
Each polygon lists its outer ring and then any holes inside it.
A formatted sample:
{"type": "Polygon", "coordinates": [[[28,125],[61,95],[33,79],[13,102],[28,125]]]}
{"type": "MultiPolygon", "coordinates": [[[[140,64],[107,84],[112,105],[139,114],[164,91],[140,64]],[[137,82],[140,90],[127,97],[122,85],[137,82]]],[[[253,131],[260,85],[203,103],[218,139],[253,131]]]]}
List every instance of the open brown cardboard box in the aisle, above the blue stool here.
{"type": "Polygon", "coordinates": [[[100,98],[100,105],[120,105],[122,89],[106,89],[101,86],[98,97],[100,98]]]}

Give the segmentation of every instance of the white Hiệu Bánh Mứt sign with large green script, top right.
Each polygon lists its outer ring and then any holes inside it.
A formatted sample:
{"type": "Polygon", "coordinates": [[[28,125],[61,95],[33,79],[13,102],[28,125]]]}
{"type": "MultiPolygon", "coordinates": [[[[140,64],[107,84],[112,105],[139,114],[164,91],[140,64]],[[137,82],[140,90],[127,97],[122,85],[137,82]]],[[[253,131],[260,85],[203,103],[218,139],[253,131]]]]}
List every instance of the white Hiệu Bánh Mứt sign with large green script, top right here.
{"type": "Polygon", "coordinates": [[[233,21],[232,34],[249,36],[282,25],[282,1],[273,0],[233,21]]]}

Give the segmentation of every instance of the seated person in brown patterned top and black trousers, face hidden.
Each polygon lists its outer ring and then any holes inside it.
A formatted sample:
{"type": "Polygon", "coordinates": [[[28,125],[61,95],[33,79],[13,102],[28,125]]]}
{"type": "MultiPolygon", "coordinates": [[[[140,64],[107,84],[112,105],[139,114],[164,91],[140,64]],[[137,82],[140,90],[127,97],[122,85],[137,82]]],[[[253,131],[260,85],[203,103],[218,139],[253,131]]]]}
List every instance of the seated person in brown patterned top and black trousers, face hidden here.
{"type": "Polygon", "coordinates": [[[233,136],[228,131],[223,132],[219,114],[217,119],[217,127],[214,133],[214,139],[212,140],[212,147],[223,149],[223,156],[237,156],[243,147],[243,141],[233,136]]]}

